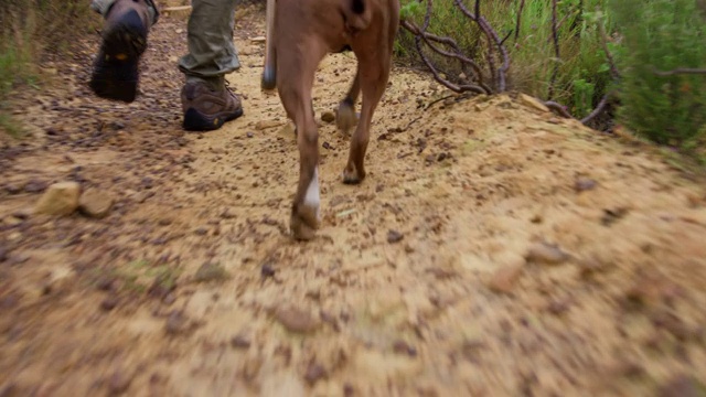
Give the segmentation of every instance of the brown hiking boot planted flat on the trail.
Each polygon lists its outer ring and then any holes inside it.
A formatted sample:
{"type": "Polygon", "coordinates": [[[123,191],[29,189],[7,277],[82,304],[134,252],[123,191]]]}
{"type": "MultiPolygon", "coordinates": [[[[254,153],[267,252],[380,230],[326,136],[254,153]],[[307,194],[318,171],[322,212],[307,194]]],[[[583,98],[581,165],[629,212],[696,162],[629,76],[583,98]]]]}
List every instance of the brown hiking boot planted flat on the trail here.
{"type": "Polygon", "coordinates": [[[215,130],[224,122],[243,116],[240,99],[227,84],[214,89],[206,82],[186,82],[181,89],[181,106],[183,128],[188,131],[215,130]]]}

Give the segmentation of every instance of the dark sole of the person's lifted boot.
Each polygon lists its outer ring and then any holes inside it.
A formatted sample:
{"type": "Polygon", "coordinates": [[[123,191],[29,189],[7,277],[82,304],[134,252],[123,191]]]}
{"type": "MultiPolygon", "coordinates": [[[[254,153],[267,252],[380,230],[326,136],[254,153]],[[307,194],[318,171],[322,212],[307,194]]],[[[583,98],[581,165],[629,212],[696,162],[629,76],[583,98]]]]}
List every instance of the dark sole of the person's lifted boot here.
{"type": "Polygon", "coordinates": [[[147,50],[147,32],[135,11],[106,32],[89,86],[106,99],[131,103],[137,97],[138,62],[147,50]]]}

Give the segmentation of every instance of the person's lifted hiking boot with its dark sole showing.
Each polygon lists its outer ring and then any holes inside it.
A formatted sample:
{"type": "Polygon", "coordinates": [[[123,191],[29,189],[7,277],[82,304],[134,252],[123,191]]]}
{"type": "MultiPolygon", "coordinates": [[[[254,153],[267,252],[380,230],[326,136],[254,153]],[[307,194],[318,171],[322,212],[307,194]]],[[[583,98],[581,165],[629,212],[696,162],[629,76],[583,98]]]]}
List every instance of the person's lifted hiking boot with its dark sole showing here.
{"type": "Polygon", "coordinates": [[[90,89],[103,98],[131,103],[137,96],[138,62],[147,49],[152,0],[116,0],[106,13],[103,43],[90,89]]]}

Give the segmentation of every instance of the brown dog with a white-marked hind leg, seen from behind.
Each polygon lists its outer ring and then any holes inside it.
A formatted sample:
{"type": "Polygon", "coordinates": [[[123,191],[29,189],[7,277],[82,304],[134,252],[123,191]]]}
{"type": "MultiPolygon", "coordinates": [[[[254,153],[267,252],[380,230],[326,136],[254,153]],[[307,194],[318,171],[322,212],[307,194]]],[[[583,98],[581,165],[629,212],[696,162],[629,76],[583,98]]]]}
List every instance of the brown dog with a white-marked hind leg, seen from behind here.
{"type": "Polygon", "coordinates": [[[357,58],[353,84],[339,105],[338,127],[355,125],[355,101],[363,108],[351,139],[343,182],[365,178],[364,158],[371,121],[387,86],[393,44],[399,25],[399,0],[268,0],[267,50],[263,89],[274,89],[296,126],[299,146],[299,185],[291,208],[290,229],[298,239],[311,239],[319,228],[319,132],[311,88],[321,60],[352,50],[357,58]]]}

